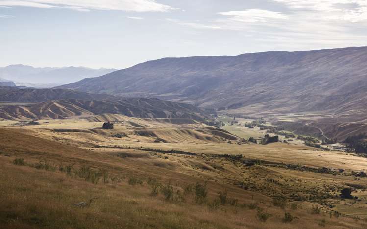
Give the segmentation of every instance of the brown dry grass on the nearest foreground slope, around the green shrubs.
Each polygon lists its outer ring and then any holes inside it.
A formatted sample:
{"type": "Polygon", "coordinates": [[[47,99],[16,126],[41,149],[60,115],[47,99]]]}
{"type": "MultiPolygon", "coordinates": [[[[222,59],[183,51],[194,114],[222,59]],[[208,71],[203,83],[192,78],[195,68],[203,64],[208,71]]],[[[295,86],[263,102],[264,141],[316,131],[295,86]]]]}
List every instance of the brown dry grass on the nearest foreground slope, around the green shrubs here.
{"type": "Polygon", "coordinates": [[[185,185],[204,183],[206,179],[149,165],[139,158],[122,159],[104,152],[82,150],[16,130],[0,129],[0,137],[0,151],[4,152],[0,155],[2,228],[308,229],[320,227],[324,219],[325,228],[330,229],[366,227],[362,220],[329,218],[325,213],[312,215],[307,205],[295,210],[286,208],[298,219],[284,223],[285,210],[273,206],[270,198],[225,182],[207,181],[208,197],[204,204],[197,204],[194,194],[186,194],[184,202],[166,201],[162,193],[151,196],[151,185],[147,184],[149,177],[157,178],[164,185],[171,180],[173,190],[182,193],[185,185]],[[9,156],[5,155],[7,153],[9,156]],[[76,176],[68,177],[63,172],[12,164],[17,157],[24,158],[26,163],[47,159],[55,165],[75,164],[75,169],[91,166],[109,174],[122,174],[126,179],[120,183],[100,181],[92,184],[76,176]],[[144,182],[129,185],[129,176],[144,182]],[[225,189],[229,190],[228,197],[238,199],[237,206],[213,204],[218,199],[218,192],[225,189]],[[75,206],[78,202],[86,202],[88,206],[75,206]],[[249,207],[251,204],[254,207],[249,207]],[[266,222],[259,220],[259,208],[271,215],[266,222]]]}

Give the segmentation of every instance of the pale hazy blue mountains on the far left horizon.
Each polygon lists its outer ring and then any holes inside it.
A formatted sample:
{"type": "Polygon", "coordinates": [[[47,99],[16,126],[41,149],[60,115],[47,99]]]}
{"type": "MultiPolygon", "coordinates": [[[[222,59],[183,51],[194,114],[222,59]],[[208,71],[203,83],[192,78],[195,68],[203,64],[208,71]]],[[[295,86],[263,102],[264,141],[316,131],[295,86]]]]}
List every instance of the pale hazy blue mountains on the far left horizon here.
{"type": "Polygon", "coordinates": [[[22,64],[0,67],[0,78],[18,86],[53,87],[76,82],[87,77],[102,76],[116,69],[91,69],[86,67],[34,68],[22,64]]]}

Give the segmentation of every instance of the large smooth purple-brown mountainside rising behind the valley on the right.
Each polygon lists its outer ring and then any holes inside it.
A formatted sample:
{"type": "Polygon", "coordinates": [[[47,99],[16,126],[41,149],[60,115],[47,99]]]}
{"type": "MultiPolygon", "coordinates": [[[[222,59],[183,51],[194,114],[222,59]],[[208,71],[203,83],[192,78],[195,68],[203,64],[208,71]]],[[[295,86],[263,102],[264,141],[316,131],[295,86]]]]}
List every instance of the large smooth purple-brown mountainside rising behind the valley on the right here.
{"type": "Polygon", "coordinates": [[[61,87],[243,113],[327,111],[362,120],[367,47],[164,58],[61,87]]]}

